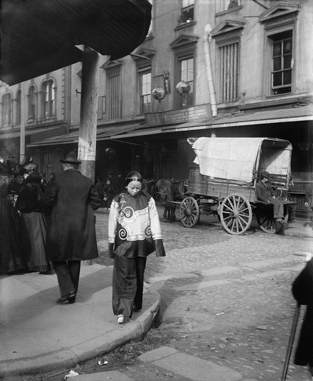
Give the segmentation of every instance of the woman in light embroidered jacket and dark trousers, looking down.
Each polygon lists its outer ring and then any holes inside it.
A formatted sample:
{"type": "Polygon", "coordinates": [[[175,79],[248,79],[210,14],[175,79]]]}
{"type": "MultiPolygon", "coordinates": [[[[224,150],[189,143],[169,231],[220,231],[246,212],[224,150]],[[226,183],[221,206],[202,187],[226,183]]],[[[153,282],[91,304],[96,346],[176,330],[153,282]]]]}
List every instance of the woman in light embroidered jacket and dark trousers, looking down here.
{"type": "Polygon", "coordinates": [[[109,216],[109,253],[114,258],[112,307],[118,323],[141,310],[147,256],[164,257],[155,200],[141,191],[142,177],[127,175],[126,190],[114,197],[109,216]]]}

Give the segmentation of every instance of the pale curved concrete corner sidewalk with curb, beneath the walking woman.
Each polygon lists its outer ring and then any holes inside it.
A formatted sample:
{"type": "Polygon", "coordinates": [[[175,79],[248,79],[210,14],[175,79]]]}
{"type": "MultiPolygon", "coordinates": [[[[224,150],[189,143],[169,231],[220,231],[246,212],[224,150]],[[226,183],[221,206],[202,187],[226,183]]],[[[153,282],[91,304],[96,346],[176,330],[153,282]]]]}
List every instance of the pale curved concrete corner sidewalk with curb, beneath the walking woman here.
{"type": "Polygon", "coordinates": [[[112,266],[82,266],[76,302],[57,305],[55,274],[0,276],[0,378],[75,366],[147,332],[159,294],[145,285],[142,310],[119,325],[111,284],[112,266]]]}

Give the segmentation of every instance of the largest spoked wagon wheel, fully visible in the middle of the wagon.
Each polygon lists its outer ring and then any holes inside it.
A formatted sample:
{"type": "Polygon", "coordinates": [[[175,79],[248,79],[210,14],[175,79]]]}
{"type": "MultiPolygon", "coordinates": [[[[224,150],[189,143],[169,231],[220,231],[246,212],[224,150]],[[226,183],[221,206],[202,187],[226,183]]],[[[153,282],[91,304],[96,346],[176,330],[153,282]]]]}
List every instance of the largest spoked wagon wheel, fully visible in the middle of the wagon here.
{"type": "Polygon", "coordinates": [[[221,222],[230,234],[243,234],[250,227],[252,209],[249,201],[241,194],[231,194],[224,198],[220,209],[221,222]]]}

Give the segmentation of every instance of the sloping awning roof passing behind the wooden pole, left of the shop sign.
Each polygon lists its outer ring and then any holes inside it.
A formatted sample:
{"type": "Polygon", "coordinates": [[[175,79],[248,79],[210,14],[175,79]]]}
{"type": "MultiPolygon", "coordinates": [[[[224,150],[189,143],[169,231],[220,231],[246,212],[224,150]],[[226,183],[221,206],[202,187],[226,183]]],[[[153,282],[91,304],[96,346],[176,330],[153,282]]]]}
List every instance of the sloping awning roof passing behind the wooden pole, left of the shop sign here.
{"type": "MultiPolygon", "coordinates": [[[[114,135],[122,135],[142,127],[140,124],[109,125],[97,128],[97,141],[112,140],[114,135]]],[[[27,147],[40,147],[45,145],[78,143],[79,130],[72,131],[66,135],[54,136],[44,140],[27,144],[27,147]]]]}

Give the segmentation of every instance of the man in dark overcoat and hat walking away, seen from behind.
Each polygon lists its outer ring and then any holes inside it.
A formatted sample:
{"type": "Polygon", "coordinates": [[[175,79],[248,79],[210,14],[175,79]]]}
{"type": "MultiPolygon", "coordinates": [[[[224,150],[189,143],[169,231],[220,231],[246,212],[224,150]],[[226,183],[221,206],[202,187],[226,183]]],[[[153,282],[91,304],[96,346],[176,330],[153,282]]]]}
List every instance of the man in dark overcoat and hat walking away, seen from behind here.
{"type": "Polygon", "coordinates": [[[83,260],[98,257],[93,211],[101,205],[92,181],[82,175],[74,152],[60,160],[63,173],[48,182],[41,206],[47,219],[46,260],[58,277],[61,298],[74,303],[83,260]]]}

